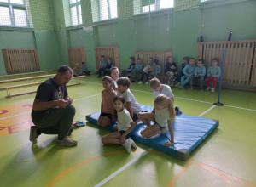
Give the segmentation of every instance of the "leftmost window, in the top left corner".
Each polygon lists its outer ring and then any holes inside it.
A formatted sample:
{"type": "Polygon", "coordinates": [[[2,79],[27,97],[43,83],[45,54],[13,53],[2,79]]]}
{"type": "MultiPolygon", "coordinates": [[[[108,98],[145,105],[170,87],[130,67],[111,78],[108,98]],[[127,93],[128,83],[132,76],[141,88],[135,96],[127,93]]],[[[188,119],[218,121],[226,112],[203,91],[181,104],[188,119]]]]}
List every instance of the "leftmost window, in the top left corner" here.
{"type": "Polygon", "coordinates": [[[0,0],[0,26],[29,27],[24,0],[0,0]]]}

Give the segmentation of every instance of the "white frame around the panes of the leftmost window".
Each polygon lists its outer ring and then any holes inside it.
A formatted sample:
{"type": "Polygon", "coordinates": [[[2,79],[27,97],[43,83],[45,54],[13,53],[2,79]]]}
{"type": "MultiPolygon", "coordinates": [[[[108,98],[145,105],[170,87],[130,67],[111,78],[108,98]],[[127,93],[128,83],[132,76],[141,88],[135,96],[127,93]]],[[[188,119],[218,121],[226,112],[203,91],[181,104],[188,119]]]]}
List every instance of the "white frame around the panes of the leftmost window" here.
{"type": "Polygon", "coordinates": [[[26,1],[22,0],[23,4],[17,4],[17,3],[11,3],[10,0],[8,0],[8,3],[6,2],[0,2],[0,7],[6,7],[9,9],[9,18],[10,18],[10,25],[0,25],[0,26],[9,26],[9,27],[21,27],[21,28],[31,28],[29,19],[28,19],[28,13],[26,8],[26,1]],[[16,26],[15,25],[15,12],[14,10],[24,10],[26,15],[26,26],[16,26]]]}

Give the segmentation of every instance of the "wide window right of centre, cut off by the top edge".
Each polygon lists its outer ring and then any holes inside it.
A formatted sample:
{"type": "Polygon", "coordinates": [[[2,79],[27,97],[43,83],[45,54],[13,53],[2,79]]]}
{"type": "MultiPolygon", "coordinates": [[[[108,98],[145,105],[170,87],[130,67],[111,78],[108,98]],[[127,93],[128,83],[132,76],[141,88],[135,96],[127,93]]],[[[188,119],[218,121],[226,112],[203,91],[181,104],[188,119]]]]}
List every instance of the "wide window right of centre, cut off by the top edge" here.
{"type": "Polygon", "coordinates": [[[134,0],[134,14],[143,14],[166,8],[173,8],[173,0],[134,0]],[[138,8],[139,7],[139,8],[138,8]]]}

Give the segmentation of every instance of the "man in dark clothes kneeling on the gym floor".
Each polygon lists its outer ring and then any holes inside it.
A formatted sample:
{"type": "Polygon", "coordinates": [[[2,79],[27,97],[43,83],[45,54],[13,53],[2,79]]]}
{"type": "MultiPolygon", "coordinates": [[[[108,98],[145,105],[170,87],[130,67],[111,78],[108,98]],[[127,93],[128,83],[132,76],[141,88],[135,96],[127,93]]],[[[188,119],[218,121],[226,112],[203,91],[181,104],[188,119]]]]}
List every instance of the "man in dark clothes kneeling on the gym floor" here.
{"type": "Polygon", "coordinates": [[[41,83],[32,108],[30,141],[38,142],[41,133],[58,134],[57,144],[73,146],[77,141],[69,139],[73,132],[72,122],[76,113],[73,99],[68,97],[66,84],[73,76],[73,71],[67,65],[61,66],[55,77],[50,77],[41,83]]]}

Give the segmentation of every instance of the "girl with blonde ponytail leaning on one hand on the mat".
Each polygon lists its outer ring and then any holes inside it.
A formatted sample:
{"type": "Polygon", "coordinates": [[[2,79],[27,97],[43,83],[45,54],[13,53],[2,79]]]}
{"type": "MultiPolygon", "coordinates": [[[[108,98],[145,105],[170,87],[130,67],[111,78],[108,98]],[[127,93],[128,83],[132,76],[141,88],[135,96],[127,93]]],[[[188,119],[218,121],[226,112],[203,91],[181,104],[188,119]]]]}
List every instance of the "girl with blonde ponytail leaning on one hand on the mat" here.
{"type": "Polygon", "coordinates": [[[166,141],[165,145],[171,146],[174,144],[172,121],[175,119],[175,110],[172,99],[164,94],[159,94],[154,99],[154,109],[155,113],[148,112],[147,115],[145,115],[145,112],[140,112],[138,114],[138,118],[148,125],[148,127],[141,131],[141,135],[144,138],[149,138],[158,133],[165,134],[167,131],[166,126],[168,124],[171,141],[166,141]],[[150,125],[151,121],[154,122],[154,125],[150,125]]]}

